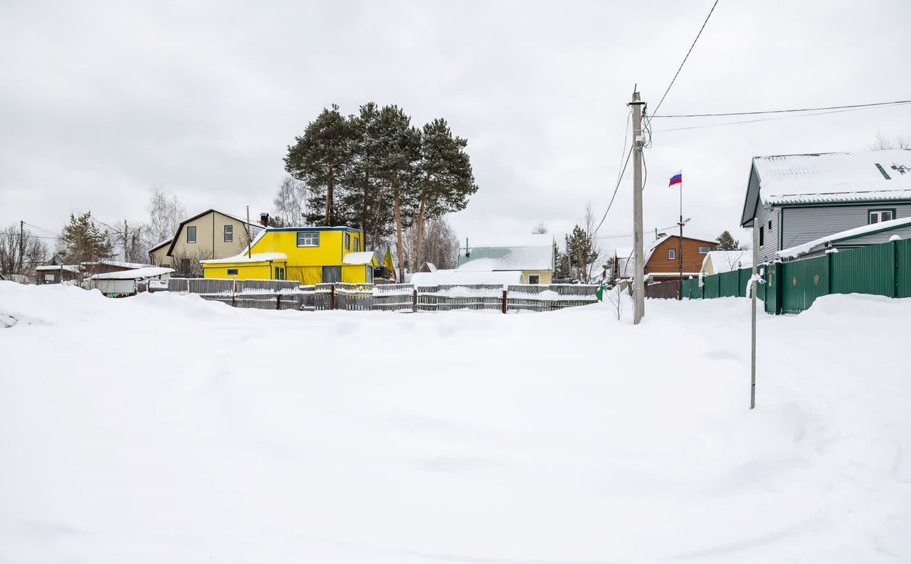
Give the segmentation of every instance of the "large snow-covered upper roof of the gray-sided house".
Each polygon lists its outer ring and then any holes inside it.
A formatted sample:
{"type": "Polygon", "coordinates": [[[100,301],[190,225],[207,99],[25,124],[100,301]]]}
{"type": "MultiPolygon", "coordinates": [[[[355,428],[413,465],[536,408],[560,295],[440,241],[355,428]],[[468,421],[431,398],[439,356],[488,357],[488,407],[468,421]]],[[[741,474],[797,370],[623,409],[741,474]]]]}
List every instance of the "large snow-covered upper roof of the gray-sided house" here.
{"type": "Polygon", "coordinates": [[[911,199],[911,150],[756,156],[766,204],[911,199]]]}

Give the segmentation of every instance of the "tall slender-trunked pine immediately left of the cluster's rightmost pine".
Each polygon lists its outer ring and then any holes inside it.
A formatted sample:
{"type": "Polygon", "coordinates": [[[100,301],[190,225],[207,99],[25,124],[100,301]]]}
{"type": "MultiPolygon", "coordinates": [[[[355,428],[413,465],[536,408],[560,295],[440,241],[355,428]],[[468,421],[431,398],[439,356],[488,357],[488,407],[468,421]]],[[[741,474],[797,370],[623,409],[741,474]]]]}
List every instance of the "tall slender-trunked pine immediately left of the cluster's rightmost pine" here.
{"type": "Polygon", "coordinates": [[[401,108],[384,106],[368,127],[368,135],[376,158],[376,177],[393,197],[396,254],[399,272],[404,275],[402,229],[414,216],[418,196],[415,168],[421,156],[421,133],[401,108]]]}

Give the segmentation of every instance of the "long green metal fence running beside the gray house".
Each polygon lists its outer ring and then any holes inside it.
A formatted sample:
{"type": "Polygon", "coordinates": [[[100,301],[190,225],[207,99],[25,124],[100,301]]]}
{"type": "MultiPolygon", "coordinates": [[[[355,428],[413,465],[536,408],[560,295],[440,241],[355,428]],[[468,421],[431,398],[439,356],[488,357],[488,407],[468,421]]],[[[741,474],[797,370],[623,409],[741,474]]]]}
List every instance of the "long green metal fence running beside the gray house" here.
{"type": "MultiPolygon", "coordinates": [[[[800,313],[828,294],[911,297],[911,239],[890,241],[786,263],[763,265],[757,297],[771,314],[800,313]]],[[[691,299],[745,297],[751,268],[684,280],[691,299]]]]}

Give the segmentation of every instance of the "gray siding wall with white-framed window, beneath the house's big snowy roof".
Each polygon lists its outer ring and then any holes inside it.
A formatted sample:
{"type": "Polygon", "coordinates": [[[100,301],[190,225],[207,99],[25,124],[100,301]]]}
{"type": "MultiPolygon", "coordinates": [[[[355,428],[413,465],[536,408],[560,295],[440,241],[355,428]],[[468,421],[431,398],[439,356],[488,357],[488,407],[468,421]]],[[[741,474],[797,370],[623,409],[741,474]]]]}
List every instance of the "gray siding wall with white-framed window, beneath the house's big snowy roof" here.
{"type": "MultiPolygon", "coordinates": [[[[896,218],[911,217],[911,204],[869,204],[863,206],[785,207],[783,247],[803,245],[845,229],[867,225],[871,209],[895,209],[896,218]]],[[[889,240],[889,237],[885,237],[889,240]]],[[[777,244],[777,242],[776,242],[777,244]]]]}

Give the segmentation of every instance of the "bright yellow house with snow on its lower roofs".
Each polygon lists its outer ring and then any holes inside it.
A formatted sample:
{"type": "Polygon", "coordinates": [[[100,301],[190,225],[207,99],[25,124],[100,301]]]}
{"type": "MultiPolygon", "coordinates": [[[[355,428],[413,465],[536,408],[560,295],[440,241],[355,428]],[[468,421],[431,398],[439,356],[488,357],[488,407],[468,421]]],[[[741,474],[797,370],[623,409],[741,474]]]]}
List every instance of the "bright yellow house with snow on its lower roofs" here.
{"type": "Polygon", "coordinates": [[[249,257],[200,261],[203,277],[369,284],[379,266],[373,251],[363,251],[363,232],[352,227],[268,227],[248,250],[249,257]]]}

